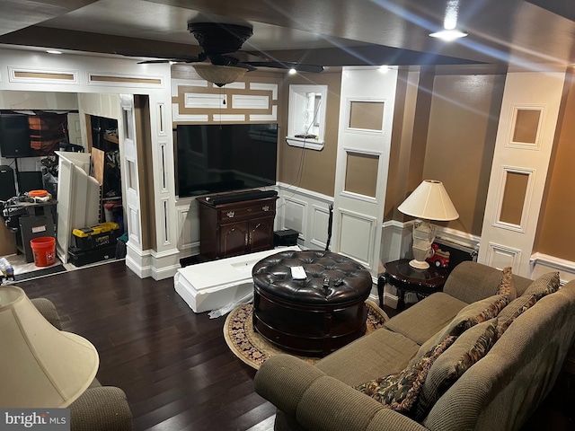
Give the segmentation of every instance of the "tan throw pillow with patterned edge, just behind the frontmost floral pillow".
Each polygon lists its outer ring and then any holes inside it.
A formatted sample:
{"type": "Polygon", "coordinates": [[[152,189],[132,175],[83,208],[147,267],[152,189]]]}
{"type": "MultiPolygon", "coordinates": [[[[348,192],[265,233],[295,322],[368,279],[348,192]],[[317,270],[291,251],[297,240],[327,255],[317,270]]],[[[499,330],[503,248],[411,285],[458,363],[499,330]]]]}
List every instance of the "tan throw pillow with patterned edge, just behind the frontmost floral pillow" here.
{"type": "Polygon", "coordinates": [[[491,349],[497,340],[497,319],[484,321],[466,330],[429,369],[415,409],[415,419],[425,418],[436,401],[456,383],[473,364],[491,349]]]}

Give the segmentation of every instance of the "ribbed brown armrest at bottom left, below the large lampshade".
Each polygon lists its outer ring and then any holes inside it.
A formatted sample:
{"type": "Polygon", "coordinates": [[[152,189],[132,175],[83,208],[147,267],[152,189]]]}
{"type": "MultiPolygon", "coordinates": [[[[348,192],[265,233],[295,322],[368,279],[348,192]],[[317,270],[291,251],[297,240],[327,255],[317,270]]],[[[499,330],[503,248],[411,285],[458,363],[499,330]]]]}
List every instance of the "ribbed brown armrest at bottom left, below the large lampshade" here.
{"type": "Polygon", "coordinates": [[[73,431],[130,431],[132,412],[126,394],[113,386],[89,388],[70,405],[73,431]]]}

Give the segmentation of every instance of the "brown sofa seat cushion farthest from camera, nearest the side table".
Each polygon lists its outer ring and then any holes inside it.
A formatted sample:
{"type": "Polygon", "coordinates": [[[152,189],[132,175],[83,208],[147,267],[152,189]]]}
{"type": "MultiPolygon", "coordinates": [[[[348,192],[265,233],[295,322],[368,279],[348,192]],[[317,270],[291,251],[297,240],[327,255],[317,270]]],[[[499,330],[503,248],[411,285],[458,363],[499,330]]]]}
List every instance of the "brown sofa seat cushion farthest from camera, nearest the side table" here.
{"type": "MultiPolygon", "coordinates": [[[[438,292],[395,315],[385,322],[384,327],[403,334],[421,345],[438,330],[444,328],[466,305],[468,304],[451,295],[438,292]]],[[[429,348],[438,342],[439,339],[429,348]]]]}

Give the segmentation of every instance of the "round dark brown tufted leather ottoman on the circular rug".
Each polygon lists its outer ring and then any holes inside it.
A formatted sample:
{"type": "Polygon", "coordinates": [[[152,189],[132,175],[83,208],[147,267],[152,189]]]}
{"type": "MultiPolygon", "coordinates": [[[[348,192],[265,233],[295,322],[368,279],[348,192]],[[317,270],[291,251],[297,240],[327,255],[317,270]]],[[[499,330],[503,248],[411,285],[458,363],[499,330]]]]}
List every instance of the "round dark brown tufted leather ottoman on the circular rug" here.
{"type": "Polygon", "coordinates": [[[331,251],[282,251],[252,270],[253,327],[271,343],[324,356],[365,333],[371,274],[331,251]],[[294,279],[291,267],[305,269],[294,279]]]}

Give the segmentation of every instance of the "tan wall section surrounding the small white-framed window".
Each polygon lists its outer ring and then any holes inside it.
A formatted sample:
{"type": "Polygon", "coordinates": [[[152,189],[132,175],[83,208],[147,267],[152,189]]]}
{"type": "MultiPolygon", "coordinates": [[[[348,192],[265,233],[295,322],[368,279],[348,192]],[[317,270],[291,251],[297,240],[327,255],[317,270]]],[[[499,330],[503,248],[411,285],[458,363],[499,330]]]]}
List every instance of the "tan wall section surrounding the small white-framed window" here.
{"type": "Polygon", "coordinates": [[[313,190],[326,196],[333,196],[340,118],[340,89],[340,72],[323,72],[316,75],[286,75],[282,84],[282,109],[279,123],[278,180],[280,182],[293,184],[302,189],[313,190]],[[325,145],[321,151],[303,149],[286,143],[290,84],[328,86],[325,113],[325,145]]]}

